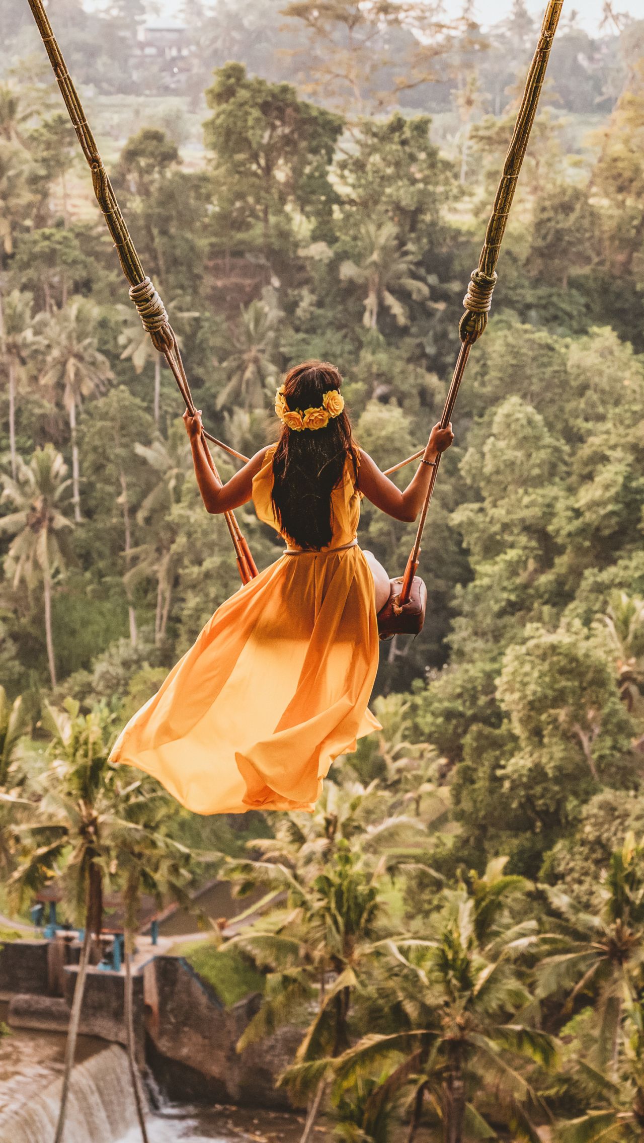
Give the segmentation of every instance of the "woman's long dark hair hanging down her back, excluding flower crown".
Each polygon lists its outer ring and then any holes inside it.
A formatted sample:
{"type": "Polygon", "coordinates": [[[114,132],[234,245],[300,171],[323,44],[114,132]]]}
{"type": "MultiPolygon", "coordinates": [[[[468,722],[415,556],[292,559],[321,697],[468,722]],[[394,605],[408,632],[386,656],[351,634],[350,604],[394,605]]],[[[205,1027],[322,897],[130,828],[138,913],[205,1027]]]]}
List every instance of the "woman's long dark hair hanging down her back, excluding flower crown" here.
{"type": "MultiPolygon", "coordinates": [[[[292,413],[323,405],[324,394],[339,390],[342,377],[328,361],[304,361],[284,381],[292,413]]],[[[272,503],[280,528],[299,547],[326,547],[333,537],[331,494],[342,480],[347,458],[358,479],[351,422],[343,410],[324,429],[291,430],[284,425],[273,456],[272,503]]]]}

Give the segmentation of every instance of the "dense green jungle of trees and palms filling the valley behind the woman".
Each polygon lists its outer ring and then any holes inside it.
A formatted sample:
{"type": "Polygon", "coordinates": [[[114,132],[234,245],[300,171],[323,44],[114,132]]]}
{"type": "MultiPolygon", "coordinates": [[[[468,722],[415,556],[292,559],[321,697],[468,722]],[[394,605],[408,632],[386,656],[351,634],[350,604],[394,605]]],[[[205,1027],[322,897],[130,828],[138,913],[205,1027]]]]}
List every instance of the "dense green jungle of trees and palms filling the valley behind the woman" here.
{"type": "MultiPolygon", "coordinates": [[[[288,5],[279,31],[272,0],[196,2],[180,70],[138,56],[136,77],[138,5],[58,8],[208,426],[252,455],[279,373],[317,355],[376,462],[412,454],[450,381],[526,6],[484,37],[436,34],[431,3],[288,5]],[[304,45],[296,89],[275,49],[304,45]]],[[[23,9],[2,5],[9,51],[23,9]]],[[[186,954],[225,1004],[262,993],[246,1041],[301,1025],[285,1082],[350,1143],[642,1134],[641,57],[637,23],[621,47],[572,23],[557,40],[560,102],[534,125],[423,543],[426,629],[385,648],[382,730],[315,814],[270,820],[197,821],[108,761],[234,589],[234,557],[59,104],[29,62],[0,86],[2,870],[25,897],[58,879],[70,913],[89,895],[93,924],[114,888],[133,924],[143,892],[188,904],[189,850],[232,855],[209,869],[261,888],[261,911],[186,954]]],[[[238,514],[268,565],[275,537],[238,514]]],[[[363,504],[391,574],[413,530],[363,504]]]]}

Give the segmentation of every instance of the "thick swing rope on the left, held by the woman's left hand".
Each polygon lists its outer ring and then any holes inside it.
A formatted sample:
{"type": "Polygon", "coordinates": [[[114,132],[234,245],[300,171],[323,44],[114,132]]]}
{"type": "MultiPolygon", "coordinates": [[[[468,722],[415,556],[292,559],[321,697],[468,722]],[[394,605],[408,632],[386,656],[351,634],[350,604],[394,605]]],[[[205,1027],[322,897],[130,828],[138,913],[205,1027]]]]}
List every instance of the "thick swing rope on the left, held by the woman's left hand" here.
{"type": "MultiPolygon", "coordinates": [[[[43,0],[29,0],[33,18],[40,32],[45,49],[49,57],[49,63],[56,77],[61,95],[70,114],[73,128],[81,145],[87,165],[92,170],[92,181],[96,201],[103,211],[105,223],[113,238],[117,254],[122,272],[127,278],[130,290],[129,296],[136,306],[138,315],[143,322],[143,328],[149,333],[152,344],[159,353],[165,357],[180,393],[183,397],[185,408],[190,414],[194,414],[196,407],[190,392],[190,385],[183,367],[181,351],[176,334],[170,326],[166,307],[154,289],[152,282],[146,277],[141,264],[136,247],[130,238],[125,218],[121,214],[112,184],[103,166],[103,160],[96,146],[96,141],[87,122],[87,118],[80,102],[80,97],[74,87],[73,80],[67,71],[61,48],[45,11],[43,0]]],[[[205,437],[218,448],[224,449],[231,456],[241,459],[241,454],[236,449],[224,445],[223,441],[205,432],[205,437]]],[[[215,463],[210,457],[210,466],[217,480],[221,482],[215,463]]],[[[251,549],[233,512],[225,512],[224,519],[234,547],[237,566],[243,583],[248,583],[257,575],[255,561],[251,554],[251,549]]]]}

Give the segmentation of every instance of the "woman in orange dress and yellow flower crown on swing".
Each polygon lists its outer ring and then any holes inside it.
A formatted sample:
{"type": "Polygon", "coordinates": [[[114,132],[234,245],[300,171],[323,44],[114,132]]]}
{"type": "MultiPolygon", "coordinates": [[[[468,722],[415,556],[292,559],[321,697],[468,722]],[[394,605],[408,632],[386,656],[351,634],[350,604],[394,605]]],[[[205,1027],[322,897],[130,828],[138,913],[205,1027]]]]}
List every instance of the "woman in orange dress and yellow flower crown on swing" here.
{"type": "Polygon", "coordinates": [[[194,813],[311,810],[332,761],[379,729],[367,704],[390,584],[358,547],[360,498],[415,520],[454,435],[451,425],[431,430],[400,491],[356,445],[341,385],[327,362],[291,369],[276,395],[279,441],[223,486],[199,414],[184,414],[208,512],[252,499],[287,544],[215,612],[112,751],[112,761],[152,774],[194,813]]]}

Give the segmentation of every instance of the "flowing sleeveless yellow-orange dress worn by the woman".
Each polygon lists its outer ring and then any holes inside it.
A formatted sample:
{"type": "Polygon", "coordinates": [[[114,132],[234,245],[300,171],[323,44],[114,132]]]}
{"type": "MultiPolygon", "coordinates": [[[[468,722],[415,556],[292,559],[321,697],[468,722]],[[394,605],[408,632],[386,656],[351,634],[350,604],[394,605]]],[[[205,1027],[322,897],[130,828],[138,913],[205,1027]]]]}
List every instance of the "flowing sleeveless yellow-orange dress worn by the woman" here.
{"type": "MultiPolygon", "coordinates": [[[[279,531],[275,448],[253,503],[279,531]]],[[[379,658],[373,576],[360,549],[345,546],[360,498],[348,462],[328,547],[285,552],[222,604],[127,724],[112,761],[153,775],[197,814],[313,808],[334,759],[379,729],[367,706],[379,658]]]]}

